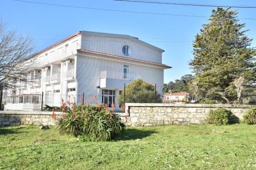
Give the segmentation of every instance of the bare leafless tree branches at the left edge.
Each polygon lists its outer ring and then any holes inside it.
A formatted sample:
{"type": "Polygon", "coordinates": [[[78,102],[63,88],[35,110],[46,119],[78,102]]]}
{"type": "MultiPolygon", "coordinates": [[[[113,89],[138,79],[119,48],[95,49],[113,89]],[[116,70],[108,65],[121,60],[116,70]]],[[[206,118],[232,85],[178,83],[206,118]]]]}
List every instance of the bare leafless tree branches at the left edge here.
{"type": "Polygon", "coordinates": [[[37,66],[36,61],[29,58],[32,50],[29,37],[5,31],[3,22],[0,22],[0,90],[15,88],[18,81],[33,81],[28,76],[37,66]]]}

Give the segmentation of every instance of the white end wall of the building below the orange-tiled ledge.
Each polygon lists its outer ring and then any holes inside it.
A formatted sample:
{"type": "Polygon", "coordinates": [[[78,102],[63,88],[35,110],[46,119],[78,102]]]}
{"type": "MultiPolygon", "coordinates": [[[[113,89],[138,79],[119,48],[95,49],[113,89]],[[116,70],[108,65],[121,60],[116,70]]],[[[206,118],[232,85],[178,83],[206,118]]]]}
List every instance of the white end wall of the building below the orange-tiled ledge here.
{"type": "MultiPolygon", "coordinates": [[[[76,63],[77,97],[83,92],[84,94],[97,95],[96,86],[100,85],[100,71],[123,72],[123,64],[130,66],[130,74],[140,75],[141,78],[148,83],[156,83],[158,92],[162,93],[163,69],[161,68],[80,55],[77,56],[76,63]]],[[[116,91],[116,93],[118,93],[118,91],[116,91]]],[[[101,94],[101,91],[99,94],[101,94]]]]}

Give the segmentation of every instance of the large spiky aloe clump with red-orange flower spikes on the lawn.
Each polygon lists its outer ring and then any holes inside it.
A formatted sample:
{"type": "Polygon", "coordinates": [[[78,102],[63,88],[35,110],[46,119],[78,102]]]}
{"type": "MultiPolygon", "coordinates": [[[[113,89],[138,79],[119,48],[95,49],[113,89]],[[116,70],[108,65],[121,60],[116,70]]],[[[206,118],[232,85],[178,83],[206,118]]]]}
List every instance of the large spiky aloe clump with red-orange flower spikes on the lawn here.
{"type": "Polygon", "coordinates": [[[68,104],[65,113],[56,119],[61,134],[78,137],[81,141],[110,140],[120,135],[125,126],[112,109],[104,104],[68,104]]]}

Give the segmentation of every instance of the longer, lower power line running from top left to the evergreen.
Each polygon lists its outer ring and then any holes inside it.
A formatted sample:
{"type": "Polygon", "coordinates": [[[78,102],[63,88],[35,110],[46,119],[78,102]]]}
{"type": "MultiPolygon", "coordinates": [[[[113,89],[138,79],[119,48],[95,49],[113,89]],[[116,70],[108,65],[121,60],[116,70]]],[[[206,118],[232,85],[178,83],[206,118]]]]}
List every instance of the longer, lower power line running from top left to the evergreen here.
{"type": "MultiPolygon", "coordinates": [[[[40,2],[22,1],[22,0],[12,0],[12,1],[22,2],[22,3],[30,3],[30,4],[41,4],[41,5],[59,6],[59,7],[70,7],[70,8],[81,8],[81,9],[101,10],[101,11],[116,11],[116,12],[128,12],[128,13],[140,13],[140,14],[154,14],[154,15],[169,15],[169,16],[186,16],[186,17],[209,18],[209,17],[207,17],[207,16],[197,16],[197,15],[181,15],[181,14],[169,14],[169,13],[153,13],[153,12],[141,12],[141,11],[125,11],[125,10],[114,10],[114,9],[104,9],[104,8],[90,8],[90,7],[71,6],[71,5],[61,5],[61,4],[49,4],[49,3],[40,3],[40,2]]],[[[238,19],[253,19],[253,20],[256,20],[256,18],[238,18],[238,19]]]]}

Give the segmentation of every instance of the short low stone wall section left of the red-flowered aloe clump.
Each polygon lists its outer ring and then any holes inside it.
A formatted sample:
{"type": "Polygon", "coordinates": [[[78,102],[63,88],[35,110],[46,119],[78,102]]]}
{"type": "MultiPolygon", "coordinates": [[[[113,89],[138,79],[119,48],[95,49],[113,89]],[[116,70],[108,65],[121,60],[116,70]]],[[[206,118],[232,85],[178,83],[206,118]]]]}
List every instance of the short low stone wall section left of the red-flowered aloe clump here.
{"type": "MultiPolygon", "coordinates": [[[[61,116],[55,112],[56,118],[61,116]]],[[[56,125],[52,112],[41,111],[0,111],[0,127],[10,125],[56,125]]]]}

